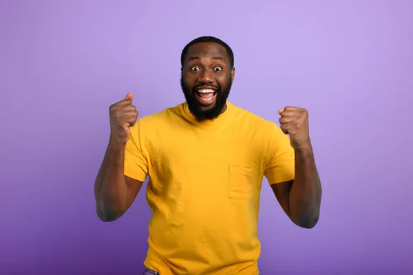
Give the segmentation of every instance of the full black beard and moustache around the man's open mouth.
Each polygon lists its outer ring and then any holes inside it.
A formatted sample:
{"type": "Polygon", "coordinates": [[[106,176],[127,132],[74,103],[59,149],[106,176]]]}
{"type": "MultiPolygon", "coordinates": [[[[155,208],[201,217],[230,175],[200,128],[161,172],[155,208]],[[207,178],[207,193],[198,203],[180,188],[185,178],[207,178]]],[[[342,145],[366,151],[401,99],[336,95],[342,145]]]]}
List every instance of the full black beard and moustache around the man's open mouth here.
{"type": "Polygon", "coordinates": [[[220,87],[220,85],[218,84],[218,89],[216,91],[217,99],[215,101],[215,105],[211,109],[203,111],[200,109],[198,101],[195,98],[195,90],[197,89],[197,87],[205,85],[205,83],[200,83],[199,85],[193,87],[193,89],[190,89],[185,85],[182,76],[180,79],[180,83],[182,91],[184,92],[185,99],[188,103],[189,111],[191,111],[192,115],[195,117],[195,120],[197,120],[198,122],[203,122],[205,120],[214,120],[215,118],[218,118],[218,115],[222,113],[222,109],[224,109],[225,107],[226,99],[229,96],[229,91],[231,91],[232,86],[230,74],[229,79],[227,81],[227,83],[229,84],[226,87],[224,87],[224,89],[222,89],[222,87],[220,87]]]}

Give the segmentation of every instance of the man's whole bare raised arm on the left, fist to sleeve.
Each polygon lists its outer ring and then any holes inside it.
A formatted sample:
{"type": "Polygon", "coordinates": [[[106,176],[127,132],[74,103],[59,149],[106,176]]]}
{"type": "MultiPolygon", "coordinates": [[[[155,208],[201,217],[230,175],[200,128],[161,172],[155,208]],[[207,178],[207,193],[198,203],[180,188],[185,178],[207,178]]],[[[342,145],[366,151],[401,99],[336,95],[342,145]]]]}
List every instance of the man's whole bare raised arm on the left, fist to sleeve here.
{"type": "Polygon", "coordinates": [[[132,95],[109,108],[111,135],[105,157],[94,184],[96,213],[102,221],[114,221],[131,206],[142,186],[142,181],[124,175],[125,150],[130,127],[138,117],[132,95]]]}

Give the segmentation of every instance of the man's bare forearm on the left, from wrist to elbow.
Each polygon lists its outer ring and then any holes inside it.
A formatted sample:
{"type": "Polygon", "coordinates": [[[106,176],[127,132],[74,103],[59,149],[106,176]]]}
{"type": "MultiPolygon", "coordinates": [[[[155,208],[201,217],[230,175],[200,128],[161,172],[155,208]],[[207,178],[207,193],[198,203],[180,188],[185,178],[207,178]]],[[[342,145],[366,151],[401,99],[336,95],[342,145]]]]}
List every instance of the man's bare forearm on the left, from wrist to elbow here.
{"type": "Polygon", "coordinates": [[[112,221],[125,211],[127,184],[124,175],[125,144],[110,142],[95,181],[96,212],[112,221]]]}

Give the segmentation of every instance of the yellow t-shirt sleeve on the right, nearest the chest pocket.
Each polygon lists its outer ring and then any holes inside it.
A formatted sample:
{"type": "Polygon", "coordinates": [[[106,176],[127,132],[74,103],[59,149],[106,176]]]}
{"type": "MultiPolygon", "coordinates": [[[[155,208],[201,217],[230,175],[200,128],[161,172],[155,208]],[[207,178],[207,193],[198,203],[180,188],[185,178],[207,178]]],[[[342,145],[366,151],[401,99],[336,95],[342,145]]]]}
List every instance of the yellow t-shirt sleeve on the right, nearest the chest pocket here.
{"type": "Polygon", "coordinates": [[[278,184],[295,178],[295,151],[290,145],[288,135],[273,124],[272,138],[270,142],[271,155],[264,168],[264,176],[268,184],[278,184]]]}

